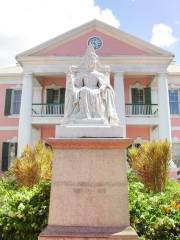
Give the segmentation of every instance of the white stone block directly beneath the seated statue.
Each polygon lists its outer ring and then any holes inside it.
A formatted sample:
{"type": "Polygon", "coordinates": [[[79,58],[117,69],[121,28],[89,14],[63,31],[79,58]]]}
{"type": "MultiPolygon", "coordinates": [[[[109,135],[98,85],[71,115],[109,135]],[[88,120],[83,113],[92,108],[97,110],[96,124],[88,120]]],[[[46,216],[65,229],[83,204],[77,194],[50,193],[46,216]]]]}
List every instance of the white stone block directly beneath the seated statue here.
{"type": "Polygon", "coordinates": [[[55,131],[56,138],[124,137],[124,134],[124,127],[110,125],[57,125],[55,131]]]}

